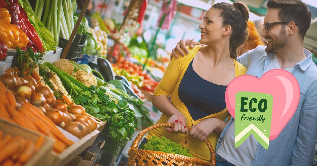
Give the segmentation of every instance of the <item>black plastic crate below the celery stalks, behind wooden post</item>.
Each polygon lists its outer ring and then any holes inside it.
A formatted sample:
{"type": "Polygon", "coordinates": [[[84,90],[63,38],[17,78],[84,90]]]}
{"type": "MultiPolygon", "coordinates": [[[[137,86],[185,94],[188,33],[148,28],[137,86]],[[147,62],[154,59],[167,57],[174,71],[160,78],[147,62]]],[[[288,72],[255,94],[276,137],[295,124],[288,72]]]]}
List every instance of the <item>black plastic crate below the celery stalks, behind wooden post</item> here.
{"type": "MultiPolygon", "coordinates": [[[[75,58],[80,58],[82,56],[81,52],[85,46],[84,43],[86,39],[87,39],[86,35],[76,34],[65,59],[71,60],[75,58]]],[[[58,46],[61,47],[64,51],[64,48],[66,47],[67,42],[68,40],[60,37],[58,46]]]]}

